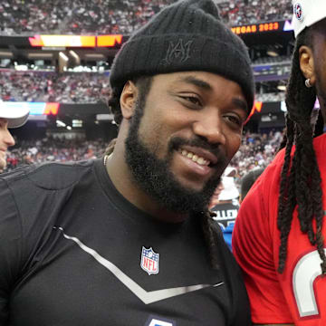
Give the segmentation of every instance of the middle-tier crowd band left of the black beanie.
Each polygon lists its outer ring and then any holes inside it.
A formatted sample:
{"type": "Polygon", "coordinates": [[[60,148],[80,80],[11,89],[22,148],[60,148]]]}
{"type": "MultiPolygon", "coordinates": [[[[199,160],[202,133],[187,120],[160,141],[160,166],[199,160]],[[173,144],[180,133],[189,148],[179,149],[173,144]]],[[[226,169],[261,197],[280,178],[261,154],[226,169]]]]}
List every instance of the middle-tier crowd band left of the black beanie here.
{"type": "Polygon", "coordinates": [[[110,96],[106,73],[63,73],[1,71],[2,101],[61,103],[107,102],[110,96]]]}

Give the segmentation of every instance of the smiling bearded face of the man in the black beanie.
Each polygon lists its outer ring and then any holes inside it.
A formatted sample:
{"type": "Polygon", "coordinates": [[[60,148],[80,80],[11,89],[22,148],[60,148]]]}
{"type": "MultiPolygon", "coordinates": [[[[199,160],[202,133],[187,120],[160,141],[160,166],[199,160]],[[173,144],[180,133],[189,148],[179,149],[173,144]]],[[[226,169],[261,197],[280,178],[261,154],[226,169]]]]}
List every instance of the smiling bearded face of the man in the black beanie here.
{"type": "Polygon", "coordinates": [[[126,159],[139,187],[170,210],[203,210],[241,143],[240,86],[210,72],[160,74],[136,106],[126,159]]]}

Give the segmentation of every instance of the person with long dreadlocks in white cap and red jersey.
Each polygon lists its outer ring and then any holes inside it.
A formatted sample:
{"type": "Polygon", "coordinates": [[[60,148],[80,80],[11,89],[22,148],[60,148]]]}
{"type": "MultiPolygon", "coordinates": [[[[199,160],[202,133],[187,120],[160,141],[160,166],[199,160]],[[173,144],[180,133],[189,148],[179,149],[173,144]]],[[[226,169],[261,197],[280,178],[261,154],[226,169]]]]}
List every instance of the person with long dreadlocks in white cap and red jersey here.
{"type": "Polygon", "coordinates": [[[296,38],[282,150],[235,221],[233,253],[245,274],[254,324],[326,325],[326,1],[294,0],[296,38]]]}

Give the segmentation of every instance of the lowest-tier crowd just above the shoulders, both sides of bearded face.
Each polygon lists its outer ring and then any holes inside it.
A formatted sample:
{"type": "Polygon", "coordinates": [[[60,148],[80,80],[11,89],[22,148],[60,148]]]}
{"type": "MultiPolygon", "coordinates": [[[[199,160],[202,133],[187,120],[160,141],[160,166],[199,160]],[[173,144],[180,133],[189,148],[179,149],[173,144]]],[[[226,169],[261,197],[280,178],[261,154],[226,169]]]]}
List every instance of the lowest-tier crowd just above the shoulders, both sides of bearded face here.
{"type": "MultiPolygon", "coordinates": [[[[236,168],[238,177],[242,177],[253,168],[265,168],[273,159],[282,139],[281,132],[267,134],[246,132],[239,151],[230,165],[236,168]]],[[[14,148],[9,149],[7,170],[21,165],[46,161],[70,161],[87,158],[99,158],[108,144],[98,139],[45,138],[38,140],[16,140],[14,148]]]]}

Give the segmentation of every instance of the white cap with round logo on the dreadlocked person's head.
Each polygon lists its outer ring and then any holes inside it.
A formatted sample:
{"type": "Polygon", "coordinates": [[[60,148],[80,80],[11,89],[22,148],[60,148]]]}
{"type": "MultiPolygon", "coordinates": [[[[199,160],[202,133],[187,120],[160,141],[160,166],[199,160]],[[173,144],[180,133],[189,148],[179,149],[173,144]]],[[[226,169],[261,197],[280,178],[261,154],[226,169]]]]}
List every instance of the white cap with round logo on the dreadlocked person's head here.
{"type": "Polygon", "coordinates": [[[292,0],[292,5],[292,24],[295,37],[297,37],[304,28],[326,18],[325,0],[292,0]]]}

